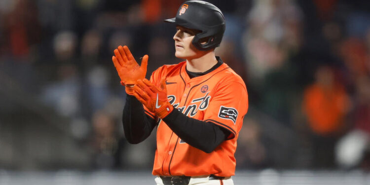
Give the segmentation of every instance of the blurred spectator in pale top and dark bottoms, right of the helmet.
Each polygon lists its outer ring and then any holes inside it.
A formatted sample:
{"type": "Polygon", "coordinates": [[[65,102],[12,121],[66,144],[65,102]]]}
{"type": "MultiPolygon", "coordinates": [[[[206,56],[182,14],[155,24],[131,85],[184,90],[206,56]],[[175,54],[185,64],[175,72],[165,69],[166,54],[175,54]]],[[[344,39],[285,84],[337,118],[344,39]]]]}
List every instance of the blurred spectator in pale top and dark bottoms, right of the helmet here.
{"type": "Polygon", "coordinates": [[[302,17],[295,1],[255,0],[243,37],[251,102],[288,125],[296,97],[292,60],[302,42],[302,17]]]}

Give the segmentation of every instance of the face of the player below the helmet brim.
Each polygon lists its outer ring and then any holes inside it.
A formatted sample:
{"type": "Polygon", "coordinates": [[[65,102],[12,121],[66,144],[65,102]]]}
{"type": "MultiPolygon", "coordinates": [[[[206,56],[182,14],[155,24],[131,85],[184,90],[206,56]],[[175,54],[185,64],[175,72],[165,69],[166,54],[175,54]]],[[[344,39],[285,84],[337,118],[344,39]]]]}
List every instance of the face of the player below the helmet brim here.
{"type": "Polygon", "coordinates": [[[182,59],[193,59],[201,56],[202,52],[191,43],[197,31],[182,26],[177,26],[176,30],[177,32],[174,36],[175,56],[182,59]]]}

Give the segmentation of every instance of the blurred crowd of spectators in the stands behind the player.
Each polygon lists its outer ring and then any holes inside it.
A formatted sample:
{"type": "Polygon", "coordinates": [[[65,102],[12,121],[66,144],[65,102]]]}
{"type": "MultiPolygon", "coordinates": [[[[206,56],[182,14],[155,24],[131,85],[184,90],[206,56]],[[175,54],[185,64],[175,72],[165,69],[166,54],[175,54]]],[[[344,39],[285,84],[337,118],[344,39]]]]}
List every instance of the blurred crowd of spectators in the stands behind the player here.
{"type": "MultiPolygon", "coordinates": [[[[206,1],[226,20],[216,55],[249,93],[237,168],[370,169],[370,2],[206,1]]],[[[89,169],[150,168],[155,132],[125,141],[111,56],[118,45],[137,61],[148,54],[147,77],[180,62],[163,19],[182,2],[1,0],[0,77],[29,95],[19,99],[68,118],[71,137],[91,150],[89,169]]]]}

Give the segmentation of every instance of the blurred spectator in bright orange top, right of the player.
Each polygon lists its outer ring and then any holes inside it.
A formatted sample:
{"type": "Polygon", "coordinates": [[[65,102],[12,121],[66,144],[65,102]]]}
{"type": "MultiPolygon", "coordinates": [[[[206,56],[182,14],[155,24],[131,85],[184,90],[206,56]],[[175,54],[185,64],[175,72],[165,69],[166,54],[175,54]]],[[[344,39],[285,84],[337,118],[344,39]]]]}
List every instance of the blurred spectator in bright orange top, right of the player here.
{"type": "Polygon", "coordinates": [[[334,145],[351,106],[348,94],[329,66],[317,69],[315,82],[303,93],[303,112],[313,133],[314,167],[333,168],[334,145]]]}

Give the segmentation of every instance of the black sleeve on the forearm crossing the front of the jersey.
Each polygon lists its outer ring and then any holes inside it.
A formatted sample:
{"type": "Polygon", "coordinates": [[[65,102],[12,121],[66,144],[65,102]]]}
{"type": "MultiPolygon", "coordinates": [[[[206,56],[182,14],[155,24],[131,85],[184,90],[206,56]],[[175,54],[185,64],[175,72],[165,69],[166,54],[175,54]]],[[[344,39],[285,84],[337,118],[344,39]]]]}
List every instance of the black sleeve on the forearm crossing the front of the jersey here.
{"type": "Polygon", "coordinates": [[[187,144],[207,153],[215,150],[230,135],[229,131],[212,122],[187,117],[177,109],[163,121],[187,144]]]}

